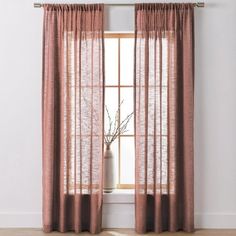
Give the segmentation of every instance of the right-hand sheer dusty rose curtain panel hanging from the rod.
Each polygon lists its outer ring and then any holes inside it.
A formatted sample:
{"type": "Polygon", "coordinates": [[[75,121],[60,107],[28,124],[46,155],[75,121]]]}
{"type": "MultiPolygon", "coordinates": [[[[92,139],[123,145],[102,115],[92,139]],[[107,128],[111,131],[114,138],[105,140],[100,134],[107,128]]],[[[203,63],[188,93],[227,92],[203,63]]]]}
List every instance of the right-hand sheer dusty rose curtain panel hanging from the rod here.
{"type": "Polygon", "coordinates": [[[136,231],[194,229],[193,4],[135,7],[136,231]]]}

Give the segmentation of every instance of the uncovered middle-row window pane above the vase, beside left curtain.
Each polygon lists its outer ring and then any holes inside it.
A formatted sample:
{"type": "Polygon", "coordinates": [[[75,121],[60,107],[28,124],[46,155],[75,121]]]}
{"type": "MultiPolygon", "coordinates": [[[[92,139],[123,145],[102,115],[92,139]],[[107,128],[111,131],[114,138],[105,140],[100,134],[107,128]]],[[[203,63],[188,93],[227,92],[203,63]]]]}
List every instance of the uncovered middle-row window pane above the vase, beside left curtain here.
{"type": "MultiPolygon", "coordinates": [[[[106,88],[105,89],[105,105],[114,124],[115,114],[118,109],[118,88],[106,88]]],[[[105,111],[105,133],[109,130],[109,119],[107,112],[105,111]]]]}

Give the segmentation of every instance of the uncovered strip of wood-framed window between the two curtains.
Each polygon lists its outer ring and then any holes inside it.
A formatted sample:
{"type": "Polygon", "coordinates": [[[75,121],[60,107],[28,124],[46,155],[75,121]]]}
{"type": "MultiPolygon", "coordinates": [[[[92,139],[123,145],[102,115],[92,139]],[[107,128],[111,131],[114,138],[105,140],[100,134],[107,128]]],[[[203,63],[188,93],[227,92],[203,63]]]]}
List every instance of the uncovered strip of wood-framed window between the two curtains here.
{"type": "MultiPolygon", "coordinates": [[[[134,100],[134,35],[105,34],[105,105],[118,122],[133,112],[134,100]]],[[[105,116],[105,126],[109,124],[105,116]]],[[[128,132],[120,135],[111,145],[115,157],[117,188],[134,188],[134,119],[129,122],[128,132]]]]}

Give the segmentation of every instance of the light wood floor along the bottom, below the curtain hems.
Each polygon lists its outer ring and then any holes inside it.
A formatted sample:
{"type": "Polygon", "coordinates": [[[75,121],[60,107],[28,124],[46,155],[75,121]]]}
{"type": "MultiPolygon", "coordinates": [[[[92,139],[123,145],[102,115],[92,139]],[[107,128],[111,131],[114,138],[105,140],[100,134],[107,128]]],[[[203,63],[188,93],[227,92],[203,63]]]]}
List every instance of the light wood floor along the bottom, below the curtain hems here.
{"type": "MultiPolygon", "coordinates": [[[[57,233],[53,232],[50,234],[43,233],[40,229],[0,229],[0,236],[78,236],[78,234],[74,233],[57,233]]],[[[81,233],[79,235],[91,235],[89,233],[81,233]]],[[[140,235],[136,234],[134,230],[131,229],[112,229],[112,230],[104,230],[101,234],[102,236],[125,236],[125,235],[140,235]]],[[[142,234],[142,235],[157,235],[154,233],[142,234]]],[[[236,236],[236,229],[235,230],[225,230],[225,229],[214,229],[214,230],[196,230],[195,233],[162,233],[159,235],[163,236],[236,236]]]]}

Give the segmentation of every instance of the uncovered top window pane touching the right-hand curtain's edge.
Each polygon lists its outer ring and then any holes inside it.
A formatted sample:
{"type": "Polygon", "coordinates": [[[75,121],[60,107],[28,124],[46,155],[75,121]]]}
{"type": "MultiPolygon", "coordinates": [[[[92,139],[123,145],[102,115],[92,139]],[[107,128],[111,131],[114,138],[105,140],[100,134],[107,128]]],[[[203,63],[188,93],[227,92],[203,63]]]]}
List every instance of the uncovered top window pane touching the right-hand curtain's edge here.
{"type": "Polygon", "coordinates": [[[120,84],[133,85],[134,39],[120,39],[120,84]]]}

